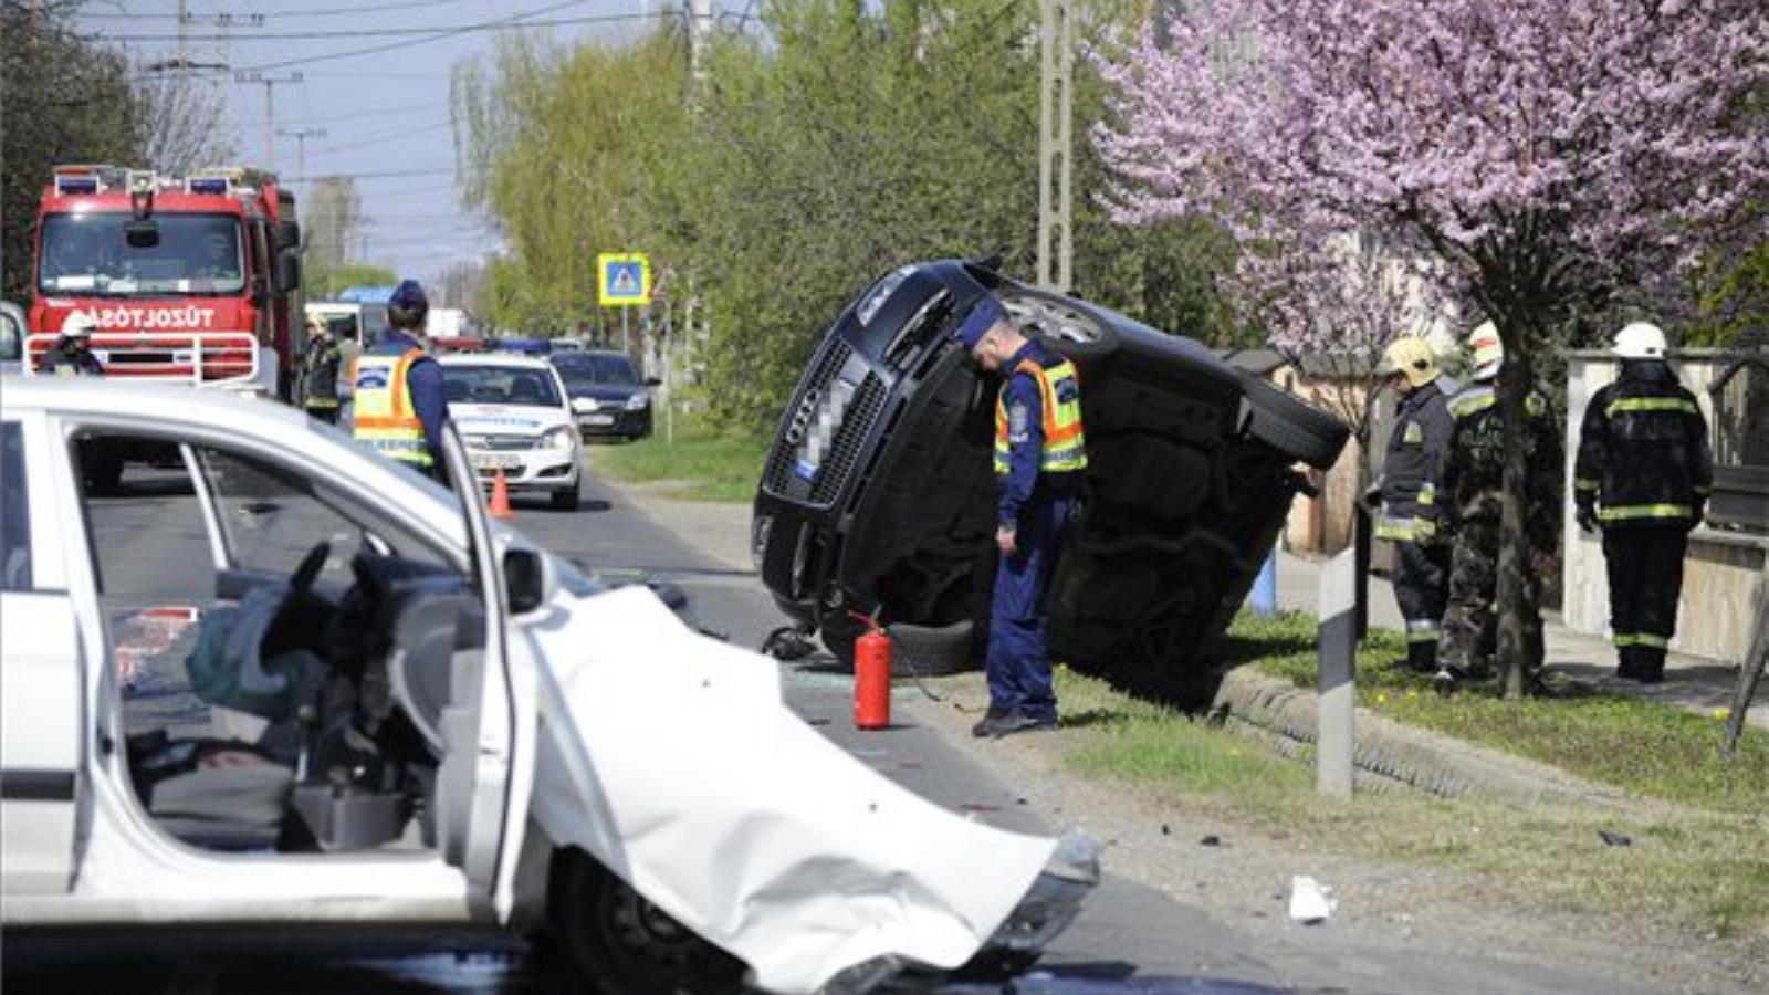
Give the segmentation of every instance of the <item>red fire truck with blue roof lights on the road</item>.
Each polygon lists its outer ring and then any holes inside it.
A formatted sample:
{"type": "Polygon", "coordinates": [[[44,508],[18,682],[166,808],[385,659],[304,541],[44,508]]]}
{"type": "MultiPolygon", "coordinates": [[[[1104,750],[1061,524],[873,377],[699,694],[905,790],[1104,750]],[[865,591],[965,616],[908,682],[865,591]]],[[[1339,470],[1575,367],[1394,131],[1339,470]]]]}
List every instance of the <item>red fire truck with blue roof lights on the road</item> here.
{"type": "Polygon", "coordinates": [[[27,372],[69,315],[94,319],[106,377],[288,398],[299,358],[301,228],[276,175],[57,166],[37,211],[27,372]]]}

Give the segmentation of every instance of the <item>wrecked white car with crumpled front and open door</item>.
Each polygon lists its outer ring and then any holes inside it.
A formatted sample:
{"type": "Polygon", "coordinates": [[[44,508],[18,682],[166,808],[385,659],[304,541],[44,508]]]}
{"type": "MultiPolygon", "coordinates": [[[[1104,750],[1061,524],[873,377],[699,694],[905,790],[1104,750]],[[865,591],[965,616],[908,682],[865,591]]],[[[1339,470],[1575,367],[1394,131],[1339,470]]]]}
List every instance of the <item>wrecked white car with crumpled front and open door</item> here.
{"type": "Polygon", "coordinates": [[[787,710],[777,664],[594,588],[476,489],[264,400],[0,397],[9,933],[479,924],[548,931],[609,993],[865,991],[1024,963],[1097,880],[1084,837],[899,788],[787,710]],[[85,494],[81,450],[119,437],[182,469],[85,494]],[[200,554],[143,552],[180,536],[200,554]],[[168,618],[202,706],[156,721],[124,630],[168,618]]]}

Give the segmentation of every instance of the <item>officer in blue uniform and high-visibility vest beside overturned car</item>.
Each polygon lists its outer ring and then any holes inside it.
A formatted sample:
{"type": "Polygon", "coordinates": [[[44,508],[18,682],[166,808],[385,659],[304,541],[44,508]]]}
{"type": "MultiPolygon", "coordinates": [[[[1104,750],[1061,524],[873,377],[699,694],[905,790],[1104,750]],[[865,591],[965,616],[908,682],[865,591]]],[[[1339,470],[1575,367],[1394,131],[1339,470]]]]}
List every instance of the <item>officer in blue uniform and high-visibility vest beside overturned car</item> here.
{"type": "Polygon", "coordinates": [[[1003,374],[994,432],[1001,558],[989,604],[989,712],[971,733],[1049,729],[1056,726],[1056,690],[1044,598],[1088,467],[1081,377],[1074,363],[1014,328],[991,296],[953,335],[978,366],[1003,374]]]}

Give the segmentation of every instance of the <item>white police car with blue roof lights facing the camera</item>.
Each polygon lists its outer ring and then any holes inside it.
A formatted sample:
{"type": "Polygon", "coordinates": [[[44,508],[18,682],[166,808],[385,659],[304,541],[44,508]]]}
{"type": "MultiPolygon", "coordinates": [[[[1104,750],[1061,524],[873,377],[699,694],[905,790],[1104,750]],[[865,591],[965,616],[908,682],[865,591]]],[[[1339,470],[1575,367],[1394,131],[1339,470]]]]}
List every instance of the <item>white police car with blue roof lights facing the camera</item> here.
{"type": "Polygon", "coordinates": [[[448,414],[481,482],[504,471],[509,492],[540,490],[561,512],[577,508],[584,441],[552,363],[534,356],[440,356],[448,414]]]}

